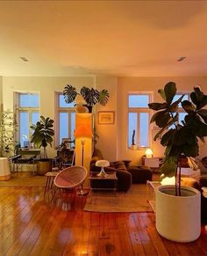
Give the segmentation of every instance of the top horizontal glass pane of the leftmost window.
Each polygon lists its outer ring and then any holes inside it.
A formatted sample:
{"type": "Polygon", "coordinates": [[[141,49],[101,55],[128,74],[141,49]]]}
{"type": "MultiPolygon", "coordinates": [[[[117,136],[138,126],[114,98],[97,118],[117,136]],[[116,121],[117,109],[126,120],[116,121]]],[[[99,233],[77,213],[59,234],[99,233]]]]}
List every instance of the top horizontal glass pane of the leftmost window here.
{"type": "Polygon", "coordinates": [[[39,94],[19,93],[20,107],[39,107],[39,94]]]}

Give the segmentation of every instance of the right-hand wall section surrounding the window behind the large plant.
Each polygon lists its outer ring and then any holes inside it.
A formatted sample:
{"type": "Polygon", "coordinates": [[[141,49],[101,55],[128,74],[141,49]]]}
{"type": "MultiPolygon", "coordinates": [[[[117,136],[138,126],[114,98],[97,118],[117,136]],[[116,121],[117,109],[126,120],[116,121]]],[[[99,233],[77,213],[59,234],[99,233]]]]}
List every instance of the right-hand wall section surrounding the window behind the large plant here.
{"type": "MultiPolygon", "coordinates": [[[[118,159],[131,159],[133,164],[140,164],[144,150],[129,150],[127,148],[127,93],[129,91],[153,91],[153,100],[161,102],[158,89],[163,88],[169,81],[177,85],[177,91],[192,91],[200,84],[207,93],[207,77],[118,77],[118,159]]],[[[156,128],[152,134],[155,135],[156,128]]],[[[152,136],[153,137],[153,136],[152,136]]],[[[152,142],[154,156],[163,156],[160,142],[152,142]]],[[[201,155],[206,155],[206,146],[201,147],[201,155]]]]}

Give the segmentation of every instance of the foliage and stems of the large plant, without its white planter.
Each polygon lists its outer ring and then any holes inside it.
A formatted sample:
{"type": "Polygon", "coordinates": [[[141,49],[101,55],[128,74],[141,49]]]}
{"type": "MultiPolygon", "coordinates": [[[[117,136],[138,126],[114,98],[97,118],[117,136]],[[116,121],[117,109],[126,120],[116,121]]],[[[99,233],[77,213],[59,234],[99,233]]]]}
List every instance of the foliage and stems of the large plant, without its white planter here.
{"type": "Polygon", "coordinates": [[[161,165],[162,177],[175,176],[175,195],[181,195],[181,161],[182,157],[188,158],[189,166],[196,169],[194,157],[199,154],[198,140],[204,143],[207,135],[207,95],[199,87],[189,94],[189,100],[183,100],[184,94],[174,100],[176,84],[169,82],[164,90],[158,90],[162,103],[150,103],[149,108],[156,111],[151,123],[155,122],[161,128],[154,136],[154,141],[161,139],[161,145],[166,147],[163,165],[161,165]],[[186,112],[184,120],[178,121],[178,106],[182,105],[186,112]]]}

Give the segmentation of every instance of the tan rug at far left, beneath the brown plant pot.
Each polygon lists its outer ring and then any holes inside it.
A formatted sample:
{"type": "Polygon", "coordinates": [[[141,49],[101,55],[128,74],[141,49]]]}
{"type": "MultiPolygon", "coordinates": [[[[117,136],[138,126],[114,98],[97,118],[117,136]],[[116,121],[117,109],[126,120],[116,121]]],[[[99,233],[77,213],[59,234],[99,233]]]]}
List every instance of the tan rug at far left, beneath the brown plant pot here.
{"type": "Polygon", "coordinates": [[[1,180],[0,187],[45,187],[46,177],[32,176],[31,172],[16,172],[11,179],[1,180]]]}

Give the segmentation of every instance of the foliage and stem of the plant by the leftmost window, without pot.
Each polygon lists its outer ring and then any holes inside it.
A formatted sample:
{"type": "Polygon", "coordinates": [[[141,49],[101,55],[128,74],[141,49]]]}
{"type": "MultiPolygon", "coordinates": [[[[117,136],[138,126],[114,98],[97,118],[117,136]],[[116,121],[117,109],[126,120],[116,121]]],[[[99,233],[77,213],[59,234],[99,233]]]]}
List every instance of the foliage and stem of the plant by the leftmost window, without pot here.
{"type": "Polygon", "coordinates": [[[40,120],[37,121],[35,125],[32,125],[31,128],[34,130],[32,134],[31,143],[34,143],[34,146],[37,148],[43,147],[43,157],[47,158],[46,147],[49,144],[52,146],[54,141],[54,120],[49,117],[40,116],[40,120]]]}

